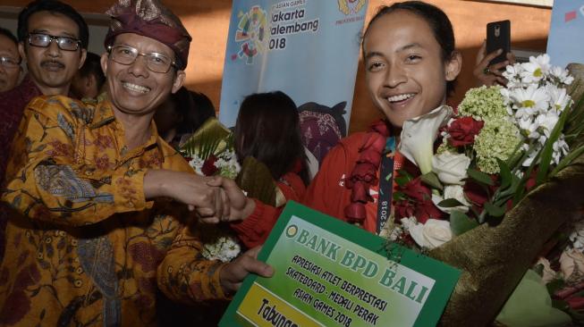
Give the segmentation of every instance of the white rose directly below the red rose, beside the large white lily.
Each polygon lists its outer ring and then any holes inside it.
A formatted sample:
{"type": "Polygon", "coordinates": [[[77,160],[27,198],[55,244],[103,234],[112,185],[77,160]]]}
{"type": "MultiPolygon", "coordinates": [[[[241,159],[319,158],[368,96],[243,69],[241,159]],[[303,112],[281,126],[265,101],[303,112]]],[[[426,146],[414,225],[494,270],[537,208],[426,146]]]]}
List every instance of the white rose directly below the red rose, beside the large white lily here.
{"type": "Polygon", "coordinates": [[[432,157],[432,171],[445,184],[463,185],[462,179],[467,178],[470,158],[463,154],[453,154],[449,151],[432,157]]]}

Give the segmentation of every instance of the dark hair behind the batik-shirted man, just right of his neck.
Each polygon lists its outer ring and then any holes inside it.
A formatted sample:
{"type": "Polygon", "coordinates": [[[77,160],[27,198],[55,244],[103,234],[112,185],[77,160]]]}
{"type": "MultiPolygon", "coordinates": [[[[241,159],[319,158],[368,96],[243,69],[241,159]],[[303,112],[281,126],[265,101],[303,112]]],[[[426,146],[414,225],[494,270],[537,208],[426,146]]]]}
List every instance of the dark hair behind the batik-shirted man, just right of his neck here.
{"type": "Polygon", "coordinates": [[[170,96],[174,111],[182,116],[182,121],[176,126],[176,134],[191,134],[210,117],[215,117],[215,106],[202,93],[190,91],[182,87],[170,96]]]}

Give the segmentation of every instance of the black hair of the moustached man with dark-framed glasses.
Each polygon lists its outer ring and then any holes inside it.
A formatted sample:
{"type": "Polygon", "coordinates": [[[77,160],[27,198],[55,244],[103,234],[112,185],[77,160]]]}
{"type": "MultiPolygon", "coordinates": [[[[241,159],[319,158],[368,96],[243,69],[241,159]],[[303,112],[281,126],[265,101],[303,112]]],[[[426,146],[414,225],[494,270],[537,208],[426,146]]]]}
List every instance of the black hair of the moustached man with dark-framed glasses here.
{"type": "Polygon", "coordinates": [[[18,39],[21,42],[25,42],[25,39],[29,35],[29,19],[33,13],[38,12],[49,12],[49,13],[60,13],[67,16],[72,21],[75,21],[77,27],[79,28],[79,39],[81,41],[81,47],[87,49],[89,45],[89,28],[87,22],[81,17],[80,13],[77,13],[75,9],[69,4],[64,4],[57,0],[35,0],[30,4],[27,4],[21,13],[18,14],[18,39]]]}

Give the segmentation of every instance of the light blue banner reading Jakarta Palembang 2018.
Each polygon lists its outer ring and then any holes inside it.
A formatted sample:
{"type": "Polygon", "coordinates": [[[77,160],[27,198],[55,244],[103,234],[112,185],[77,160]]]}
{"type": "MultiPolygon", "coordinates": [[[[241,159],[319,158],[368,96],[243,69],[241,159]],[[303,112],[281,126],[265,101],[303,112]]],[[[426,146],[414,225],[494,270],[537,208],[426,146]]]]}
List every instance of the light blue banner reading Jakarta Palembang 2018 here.
{"type": "Polygon", "coordinates": [[[281,90],[299,106],[305,145],[320,161],[347,133],[367,5],[233,1],[219,120],[232,127],[245,96],[281,90]]]}

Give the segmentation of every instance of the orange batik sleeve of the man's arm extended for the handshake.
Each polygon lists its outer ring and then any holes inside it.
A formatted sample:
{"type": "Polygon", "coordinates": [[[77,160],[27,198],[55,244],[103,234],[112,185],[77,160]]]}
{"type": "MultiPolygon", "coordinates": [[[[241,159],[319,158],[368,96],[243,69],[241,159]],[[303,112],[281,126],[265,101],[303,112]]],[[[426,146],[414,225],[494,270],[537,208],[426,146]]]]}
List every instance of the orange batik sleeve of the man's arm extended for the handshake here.
{"type": "Polygon", "coordinates": [[[118,164],[97,169],[80,147],[87,126],[64,96],[38,97],[25,110],[13,142],[2,200],[32,220],[81,226],[140,211],[146,170],[118,164]]]}

